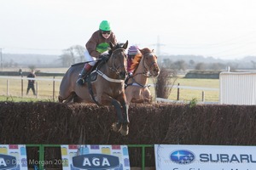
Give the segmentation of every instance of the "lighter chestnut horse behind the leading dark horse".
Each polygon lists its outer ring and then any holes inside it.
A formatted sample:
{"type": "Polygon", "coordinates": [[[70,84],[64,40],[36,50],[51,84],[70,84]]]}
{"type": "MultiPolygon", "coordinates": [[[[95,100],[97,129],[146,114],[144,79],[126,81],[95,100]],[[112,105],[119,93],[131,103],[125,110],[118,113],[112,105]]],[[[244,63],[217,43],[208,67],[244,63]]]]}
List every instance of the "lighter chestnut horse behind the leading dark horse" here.
{"type": "Polygon", "coordinates": [[[152,95],[148,89],[148,77],[158,77],[160,73],[157,65],[157,56],[154,50],[149,48],[140,49],[141,54],[135,55],[132,60],[131,70],[133,75],[126,83],[125,95],[127,104],[143,103],[152,101],[152,95]]]}

